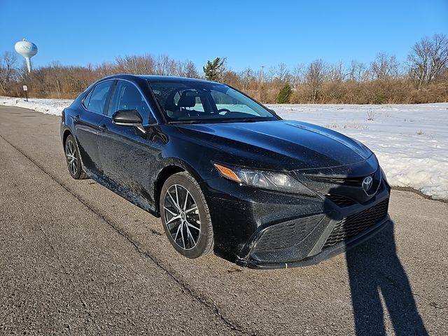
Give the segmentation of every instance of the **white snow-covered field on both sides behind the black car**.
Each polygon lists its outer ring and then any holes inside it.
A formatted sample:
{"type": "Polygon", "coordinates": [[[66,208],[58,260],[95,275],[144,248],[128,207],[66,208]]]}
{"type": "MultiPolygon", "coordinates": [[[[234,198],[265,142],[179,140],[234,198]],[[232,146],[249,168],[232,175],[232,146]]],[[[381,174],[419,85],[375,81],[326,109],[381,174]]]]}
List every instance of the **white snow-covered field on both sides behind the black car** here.
{"type": "MultiPolygon", "coordinates": [[[[71,100],[0,97],[60,115],[71,100]]],[[[302,120],[363,142],[376,153],[392,186],[448,200],[448,103],[419,105],[268,105],[284,119],[302,120]]]]}

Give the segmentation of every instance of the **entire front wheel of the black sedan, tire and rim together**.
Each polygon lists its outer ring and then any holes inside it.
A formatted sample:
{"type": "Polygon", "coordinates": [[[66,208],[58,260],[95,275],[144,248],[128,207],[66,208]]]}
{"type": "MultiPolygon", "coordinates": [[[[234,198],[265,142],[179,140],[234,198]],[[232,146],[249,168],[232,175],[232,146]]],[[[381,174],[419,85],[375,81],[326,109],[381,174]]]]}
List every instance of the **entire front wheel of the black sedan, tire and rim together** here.
{"type": "Polygon", "coordinates": [[[193,259],[213,250],[209,207],[193,176],[187,172],[169,176],[159,204],[163,228],[176,251],[193,259]]]}

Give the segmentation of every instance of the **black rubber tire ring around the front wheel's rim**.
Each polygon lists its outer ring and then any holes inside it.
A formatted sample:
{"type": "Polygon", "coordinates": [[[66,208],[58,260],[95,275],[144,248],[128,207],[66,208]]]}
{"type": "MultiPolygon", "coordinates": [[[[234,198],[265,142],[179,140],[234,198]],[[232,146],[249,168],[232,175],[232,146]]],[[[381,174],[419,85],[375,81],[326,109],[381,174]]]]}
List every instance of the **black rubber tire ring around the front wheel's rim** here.
{"type": "MultiPolygon", "coordinates": [[[[188,174],[188,177],[190,179],[193,179],[188,174]]],[[[204,195],[202,194],[202,191],[199,189],[198,186],[195,186],[195,184],[190,181],[190,179],[186,176],[186,173],[180,173],[180,174],[174,174],[172,176],[169,176],[167,181],[165,181],[162,190],[160,191],[160,217],[162,218],[162,225],[163,229],[165,230],[165,234],[167,235],[169,242],[172,244],[174,248],[176,248],[176,251],[181,253],[181,255],[186,256],[187,258],[198,258],[202,254],[204,254],[204,251],[206,250],[207,246],[209,245],[209,240],[211,237],[209,237],[208,234],[208,227],[210,222],[209,215],[207,214],[207,211],[205,207],[207,207],[207,204],[205,203],[204,195]],[[165,204],[165,195],[167,193],[167,190],[174,186],[175,184],[183,186],[183,188],[186,188],[188,192],[193,196],[193,199],[196,202],[197,209],[199,210],[199,216],[200,216],[200,222],[201,222],[201,228],[200,228],[200,238],[197,242],[196,246],[190,250],[185,250],[179,246],[176,241],[174,241],[171,233],[169,232],[167,225],[165,224],[167,222],[165,218],[165,210],[163,209],[165,204]]]]}

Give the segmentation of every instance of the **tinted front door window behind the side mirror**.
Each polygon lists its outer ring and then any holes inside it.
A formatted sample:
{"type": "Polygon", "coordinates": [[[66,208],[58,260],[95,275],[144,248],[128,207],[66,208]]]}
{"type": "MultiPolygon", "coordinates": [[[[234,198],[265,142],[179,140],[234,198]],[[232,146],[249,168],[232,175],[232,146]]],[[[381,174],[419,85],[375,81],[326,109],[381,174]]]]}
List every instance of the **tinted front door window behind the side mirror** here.
{"type": "Polygon", "coordinates": [[[141,95],[137,87],[125,80],[119,80],[113,92],[111,109],[109,116],[119,110],[137,110],[143,118],[144,123],[148,123],[148,118],[151,115],[148,104],[146,104],[144,97],[141,95]]]}

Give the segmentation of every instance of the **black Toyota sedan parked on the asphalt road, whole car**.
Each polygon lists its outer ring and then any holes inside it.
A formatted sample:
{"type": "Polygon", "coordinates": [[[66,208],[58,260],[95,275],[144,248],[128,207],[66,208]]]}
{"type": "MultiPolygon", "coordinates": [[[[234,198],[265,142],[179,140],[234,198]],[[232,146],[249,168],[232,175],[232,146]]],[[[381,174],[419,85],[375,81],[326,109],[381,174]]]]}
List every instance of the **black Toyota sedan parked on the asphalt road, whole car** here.
{"type": "Polygon", "coordinates": [[[61,137],[73,179],[160,216],[188,258],[309,265],[389,221],[390,187],[367,147],[221,83],[103,78],[64,109],[61,137]]]}

